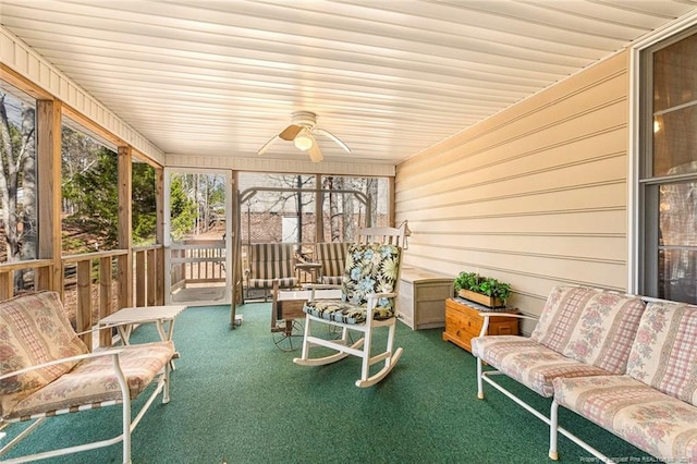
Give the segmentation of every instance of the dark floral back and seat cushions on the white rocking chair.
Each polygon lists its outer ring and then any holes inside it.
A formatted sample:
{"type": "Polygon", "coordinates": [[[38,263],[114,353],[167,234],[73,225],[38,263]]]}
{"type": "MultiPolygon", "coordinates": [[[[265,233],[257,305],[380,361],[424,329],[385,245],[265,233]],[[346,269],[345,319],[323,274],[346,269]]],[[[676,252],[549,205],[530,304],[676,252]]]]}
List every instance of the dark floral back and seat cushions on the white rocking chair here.
{"type": "MultiPolygon", "coordinates": [[[[319,300],[303,310],[315,317],[344,323],[366,320],[367,295],[396,290],[401,248],[391,244],[352,244],[346,256],[341,301],[319,300]]],[[[376,320],[394,317],[394,298],[380,297],[372,310],[376,320]]]]}

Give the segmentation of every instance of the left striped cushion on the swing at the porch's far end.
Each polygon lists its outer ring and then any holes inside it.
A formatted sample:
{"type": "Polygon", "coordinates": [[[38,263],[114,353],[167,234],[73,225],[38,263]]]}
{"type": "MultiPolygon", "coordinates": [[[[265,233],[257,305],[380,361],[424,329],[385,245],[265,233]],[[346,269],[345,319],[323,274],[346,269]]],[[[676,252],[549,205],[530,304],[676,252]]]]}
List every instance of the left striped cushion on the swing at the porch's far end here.
{"type": "Polygon", "coordinates": [[[295,251],[291,243],[259,243],[249,245],[249,289],[270,289],[273,281],[279,288],[297,285],[295,251]]]}

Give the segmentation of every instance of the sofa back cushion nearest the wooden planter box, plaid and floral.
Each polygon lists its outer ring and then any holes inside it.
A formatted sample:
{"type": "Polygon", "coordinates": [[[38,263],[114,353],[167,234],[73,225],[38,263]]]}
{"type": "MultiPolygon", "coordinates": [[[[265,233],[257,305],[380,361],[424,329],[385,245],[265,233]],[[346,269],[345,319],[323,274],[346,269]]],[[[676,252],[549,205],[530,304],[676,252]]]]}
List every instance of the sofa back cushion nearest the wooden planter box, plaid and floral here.
{"type": "Polygon", "coordinates": [[[565,356],[624,374],[644,302],[583,286],[552,289],[530,338],[565,356]]]}

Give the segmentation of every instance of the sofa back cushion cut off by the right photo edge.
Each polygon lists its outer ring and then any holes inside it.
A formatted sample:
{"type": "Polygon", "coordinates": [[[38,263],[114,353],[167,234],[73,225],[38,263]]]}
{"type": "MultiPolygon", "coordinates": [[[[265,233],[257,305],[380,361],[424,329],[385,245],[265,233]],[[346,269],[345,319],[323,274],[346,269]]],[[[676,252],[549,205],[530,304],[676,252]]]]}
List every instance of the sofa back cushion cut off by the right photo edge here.
{"type": "Polygon", "coordinates": [[[627,374],[697,405],[697,306],[649,303],[632,346],[627,374]]]}

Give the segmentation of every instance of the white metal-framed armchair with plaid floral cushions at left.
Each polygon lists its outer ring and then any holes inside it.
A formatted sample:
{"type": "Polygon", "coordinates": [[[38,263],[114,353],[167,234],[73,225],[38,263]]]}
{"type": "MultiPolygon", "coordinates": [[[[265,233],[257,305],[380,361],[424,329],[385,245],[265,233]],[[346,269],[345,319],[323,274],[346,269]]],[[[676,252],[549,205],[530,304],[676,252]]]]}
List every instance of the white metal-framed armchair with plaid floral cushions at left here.
{"type": "MultiPolygon", "coordinates": [[[[122,404],[122,435],[93,443],[17,457],[16,462],[74,453],[123,442],[131,462],[131,432],[159,393],[169,402],[171,341],[127,345],[90,353],[75,333],[56,292],[38,292],[0,302],[0,430],[48,417],[122,404]],[[131,419],[131,400],[156,387],[131,419]]],[[[76,415],[80,417],[80,414],[76,415]]],[[[8,429],[12,431],[11,428],[8,429]]],[[[21,440],[26,431],[20,434],[21,440]]],[[[0,457],[15,444],[0,434],[0,457]]],[[[17,440],[19,441],[19,440],[17,440]]],[[[10,462],[15,462],[11,460],[10,462]]]]}

